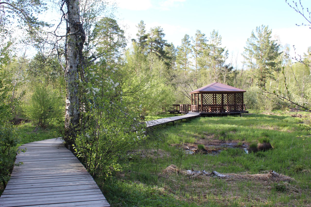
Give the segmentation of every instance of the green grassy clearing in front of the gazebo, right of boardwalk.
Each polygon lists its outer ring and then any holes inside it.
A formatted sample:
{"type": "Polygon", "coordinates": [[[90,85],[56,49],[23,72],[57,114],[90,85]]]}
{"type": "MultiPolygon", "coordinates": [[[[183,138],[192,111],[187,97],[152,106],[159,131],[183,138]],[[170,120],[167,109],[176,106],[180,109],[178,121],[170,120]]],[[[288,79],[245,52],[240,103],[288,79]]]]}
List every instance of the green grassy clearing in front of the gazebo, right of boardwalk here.
{"type": "Polygon", "coordinates": [[[121,173],[98,184],[112,206],[306,206],[311,205],[310,128],[301,118],[253,114],[243,117],[200,117],[175,126],[158,127],[139,148],[157,150],[146,157],[120,160],[121,173]],[[159,141],[159,137],[162,141],[159,141]],[[217,155],[186,154],[185,143],[200,141],[258,143],[265,138],[273,150],[245,154],[235,147],[217,155]],[[158,166],[156,166],[156,160],[158,166]],[[274,170],[295,182],[273,180],[225,180],[213,177],[189,179],[183,174],[163,174],[174,164],[180,170],[256,174],[274,170]]]}

